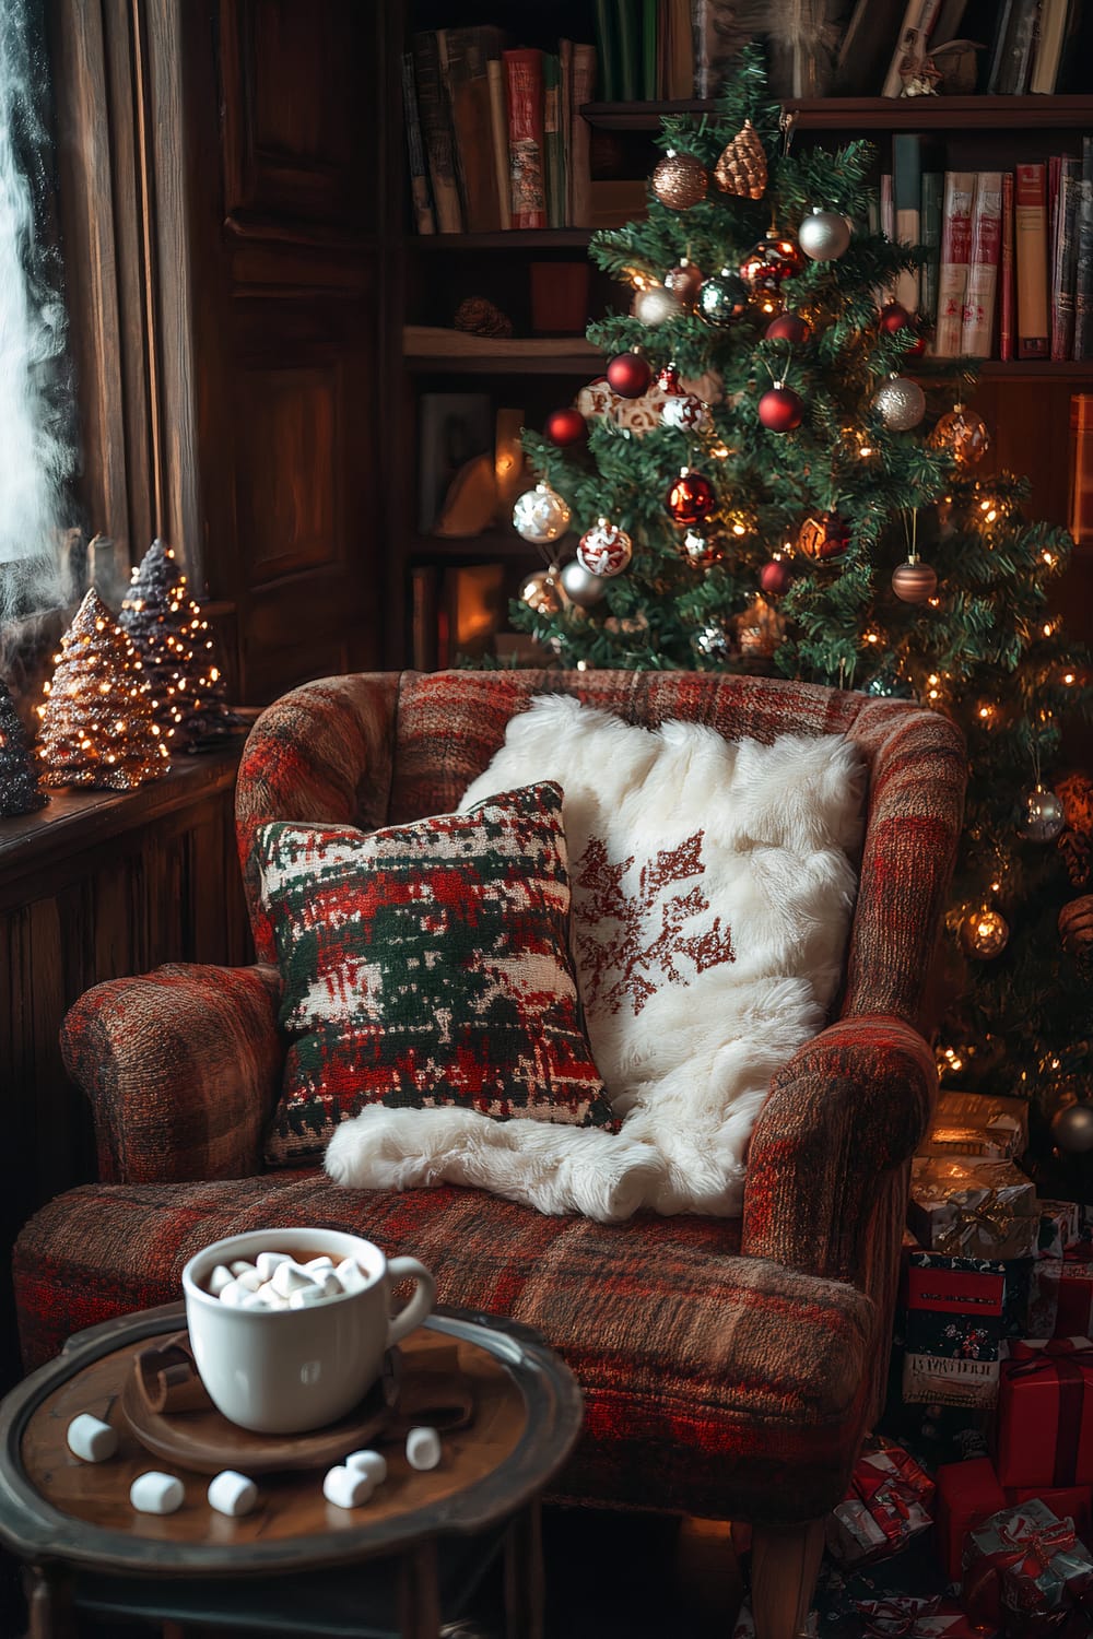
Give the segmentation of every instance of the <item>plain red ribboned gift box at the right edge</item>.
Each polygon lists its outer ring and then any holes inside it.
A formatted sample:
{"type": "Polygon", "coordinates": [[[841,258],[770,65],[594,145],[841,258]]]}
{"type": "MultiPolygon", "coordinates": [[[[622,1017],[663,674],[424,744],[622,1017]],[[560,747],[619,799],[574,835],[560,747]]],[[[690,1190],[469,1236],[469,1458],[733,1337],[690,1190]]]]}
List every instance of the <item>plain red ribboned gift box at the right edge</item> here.
{"type": "Polygon", "coordinates": [[[1011,1344],[991,1446],[1001,1485],[1093,1485],[1093,1342],[1011,1344]]]}

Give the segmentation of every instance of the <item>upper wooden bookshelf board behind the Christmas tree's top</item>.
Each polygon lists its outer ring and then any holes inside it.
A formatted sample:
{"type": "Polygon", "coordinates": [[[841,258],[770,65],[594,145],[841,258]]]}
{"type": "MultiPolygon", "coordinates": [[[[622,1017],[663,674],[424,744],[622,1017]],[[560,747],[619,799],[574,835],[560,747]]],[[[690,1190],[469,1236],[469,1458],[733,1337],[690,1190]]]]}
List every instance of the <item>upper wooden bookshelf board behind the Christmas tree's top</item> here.
{"type": "MultiPolygon", "coordinates": [[[[787,102],[800,131],[1068,131],[1093,125],[1093,97],[824,97],[787,102]]],[[[659,131],[673,113],[714,113],[713,102],[585,103],[588,125],[601,131],[659,131]]]]}

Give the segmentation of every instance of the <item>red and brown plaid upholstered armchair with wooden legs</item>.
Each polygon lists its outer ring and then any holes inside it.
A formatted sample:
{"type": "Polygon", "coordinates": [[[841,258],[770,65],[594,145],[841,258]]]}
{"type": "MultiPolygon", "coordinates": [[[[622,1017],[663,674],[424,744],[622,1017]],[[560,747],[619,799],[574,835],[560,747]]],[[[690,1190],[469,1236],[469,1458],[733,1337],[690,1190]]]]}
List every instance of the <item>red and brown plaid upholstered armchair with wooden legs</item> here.
{"type": "Polygon", "coordinates": [[[751,1521],[760,1639],[803,1623],[824,1513],[878,1408],[908,1157],[936,1095],[927,975],[965,754],[906,701],[714,674],[372,674],[308,683],[247,741],[238,838],[259,962],[169,965],[70,1010],[66,1064],[95,1113],[102,1183],[51,1201],[15,1251],[28,1367],[80,1326],[179,1296],[185,1259],[256,1226],[349,1229],[413,1252],[442,1301],[536,1328],[585,1392],[574,1501],[751,1521]],[[844,733],[869,762],[846,982],[770,1087],[741,1221],[547,1218],[462,1188],[334,1187],[262,1170],[283,1047],[249,842],[270,818],[372,828],[452,810],[533,693],[728,738],[844,733]]]}

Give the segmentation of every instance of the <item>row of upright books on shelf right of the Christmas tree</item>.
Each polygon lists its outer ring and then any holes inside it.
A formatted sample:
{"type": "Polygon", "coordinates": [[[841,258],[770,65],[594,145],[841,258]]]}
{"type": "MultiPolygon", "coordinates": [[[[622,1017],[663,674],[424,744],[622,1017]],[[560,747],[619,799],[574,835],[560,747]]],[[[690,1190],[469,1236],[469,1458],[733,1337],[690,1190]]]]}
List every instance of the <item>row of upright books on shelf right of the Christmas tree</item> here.
{"type": "Polygon", "coordinates": [[[896,133],[880,228],[931,251],[891,295],[932,326],[939,359],[1093,359],[1093,136],[1014,172],[931,169],[896,133]]]}

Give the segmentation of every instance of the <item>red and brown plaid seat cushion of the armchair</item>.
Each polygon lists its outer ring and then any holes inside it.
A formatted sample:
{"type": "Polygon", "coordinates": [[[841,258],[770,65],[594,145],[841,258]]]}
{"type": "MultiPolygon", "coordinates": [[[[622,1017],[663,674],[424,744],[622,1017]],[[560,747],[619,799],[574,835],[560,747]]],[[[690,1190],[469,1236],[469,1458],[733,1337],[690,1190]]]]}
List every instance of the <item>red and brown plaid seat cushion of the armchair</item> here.
{"type": "Polygon", "coordinates": [[[562,1352],[585,1432],[569,1500],[788,1523],[842,1496],[864,1421],[873,1303],[739,1254],[739,1223],[547,1218],[478,1190],[339,1190],[318,1172],[88,1185],[25,1228],[26,1365],[70,1331],[180,1295],[200,1246],[251,1228],[347,1229],[410,1252],[439,1300],[510,1314],[562,1352]]]}

